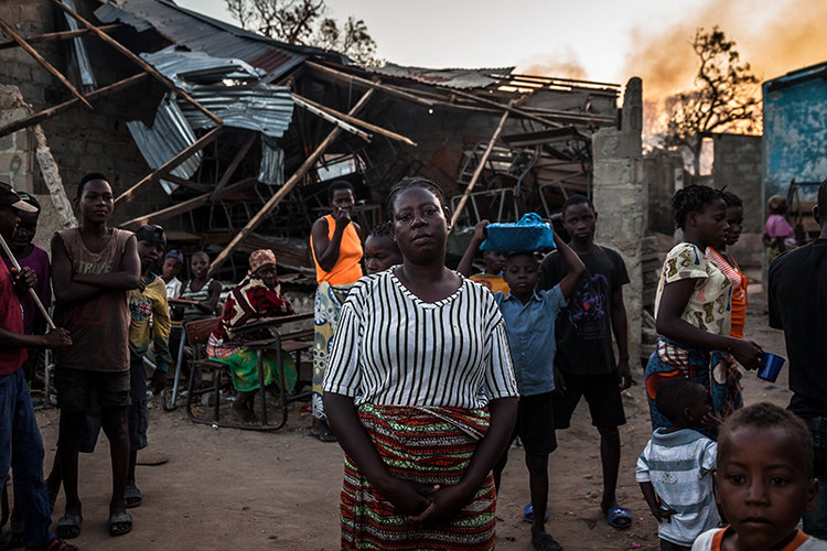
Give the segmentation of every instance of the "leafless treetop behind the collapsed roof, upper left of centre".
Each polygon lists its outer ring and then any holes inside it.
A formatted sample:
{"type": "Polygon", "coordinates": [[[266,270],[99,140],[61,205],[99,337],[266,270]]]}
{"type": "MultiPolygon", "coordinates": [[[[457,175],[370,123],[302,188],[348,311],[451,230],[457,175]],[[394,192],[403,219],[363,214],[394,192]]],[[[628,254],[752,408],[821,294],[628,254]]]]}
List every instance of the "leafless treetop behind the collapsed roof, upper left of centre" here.
{"type": "Polygon", "coordinates": [[[255,30],[288,44],[333,50],[361,65],[375,65],[376,42],[364,20],[348,17],[340,25],[325,18],[324,0],[224,0],[229,14],[244,29],[255,30]]]}

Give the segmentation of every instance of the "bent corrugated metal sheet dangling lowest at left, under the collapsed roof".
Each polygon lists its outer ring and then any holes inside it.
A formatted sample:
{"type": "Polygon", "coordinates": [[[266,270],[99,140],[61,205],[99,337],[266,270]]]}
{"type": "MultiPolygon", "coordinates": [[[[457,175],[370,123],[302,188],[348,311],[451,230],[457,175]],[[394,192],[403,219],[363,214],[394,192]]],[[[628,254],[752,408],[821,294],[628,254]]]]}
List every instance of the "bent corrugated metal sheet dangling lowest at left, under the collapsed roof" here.
{"type": "MultiPolygon", "coordinates": [[[[128,121],[127,128],[129,128],[129,133],[132,134],[132,139],[147,164],[153,170],[195,143],[195,132],[193,132],[178,104],[172,99],[171,94],[167,94],[161,100],[161,105],[158,106],[152,128],[147,128],[140,120],[128,121]]],[[[172,170],[172,174],[184,180],[189,179],[201,166],[202,156],[201,151],[194,153],[172,170]]],[[[163,180],[161,180],[161,185],[167,193],[172,193],[178,187],[176,184],[163,180]]]]}

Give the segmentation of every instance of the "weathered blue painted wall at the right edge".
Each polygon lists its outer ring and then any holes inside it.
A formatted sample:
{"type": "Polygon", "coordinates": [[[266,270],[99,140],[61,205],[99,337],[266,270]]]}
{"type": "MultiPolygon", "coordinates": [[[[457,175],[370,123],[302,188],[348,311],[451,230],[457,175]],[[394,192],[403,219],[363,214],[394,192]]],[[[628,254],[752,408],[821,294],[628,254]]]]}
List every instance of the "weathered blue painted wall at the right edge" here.
{"type": "MultiPolygon", "coordinates": [[[[799,73],[763,84],[764,199],[786,195],[792,179],[821,182],[827,177],[827,82],[803,76],[799,73]],[[790,86],[770,91],[778,82],[790,82],[790,86]]],[[[816,201],[816,188],[804,192],[802,199],[816,201]]]]}

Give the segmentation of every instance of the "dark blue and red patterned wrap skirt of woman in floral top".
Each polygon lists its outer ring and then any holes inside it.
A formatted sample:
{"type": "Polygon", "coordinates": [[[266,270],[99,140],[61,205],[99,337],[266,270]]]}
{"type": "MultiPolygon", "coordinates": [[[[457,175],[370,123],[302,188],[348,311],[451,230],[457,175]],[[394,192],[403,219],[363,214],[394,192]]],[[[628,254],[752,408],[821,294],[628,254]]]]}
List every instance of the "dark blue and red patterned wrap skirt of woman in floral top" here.
{"type": "MultiPolygon", "coordinates": [[[[655,398],[660,383],[673,377],[684,377],[704,385],[712,414],[720,419],[726,419],[743,406],[741,370],[732,356],[718,350],[709,353],[678,345],[669,338],[658,337],[645,374],[653,429],[672,426],[672,422],[657,409],[655,398]]],[[[706,429],[700,432],[710,435],[706,429]]],[[[715,434],[710,437],[715,437],[715,434]]]]}

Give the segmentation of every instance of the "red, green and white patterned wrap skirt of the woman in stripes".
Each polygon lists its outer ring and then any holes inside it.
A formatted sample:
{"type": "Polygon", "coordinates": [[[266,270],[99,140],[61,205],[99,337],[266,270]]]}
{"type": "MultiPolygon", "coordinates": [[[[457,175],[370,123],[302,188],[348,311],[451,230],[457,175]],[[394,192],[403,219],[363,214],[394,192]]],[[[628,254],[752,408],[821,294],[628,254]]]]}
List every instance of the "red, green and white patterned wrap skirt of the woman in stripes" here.
{"type": "MultiPolygon", "coordinates": [[[[487,410],[359,407],[359,420],[391,475],[415,484],[458,484],[488,429],[487,410]]],[[[342,549],[494,548],[496,490],[491,474],[449,523],[423,528],[387,501],[345,455],[342,549]]]]}

